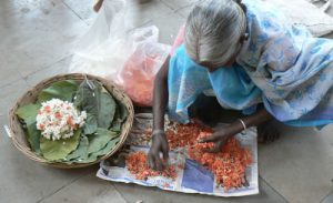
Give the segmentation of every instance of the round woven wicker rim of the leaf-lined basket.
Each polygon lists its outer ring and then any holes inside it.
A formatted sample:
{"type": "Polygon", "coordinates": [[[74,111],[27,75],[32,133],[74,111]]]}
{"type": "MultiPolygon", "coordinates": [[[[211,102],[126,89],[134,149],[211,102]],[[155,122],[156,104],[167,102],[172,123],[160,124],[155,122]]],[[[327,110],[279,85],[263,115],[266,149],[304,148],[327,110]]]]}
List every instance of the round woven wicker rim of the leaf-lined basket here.
{"type": "Polygon", "coordinates": [[[127,93],[117,87],[117,84],[110,80],[107,80],[104,78],[98,77],[98,75],[93,75],[93,74],[85,74],[85,73],[63,73],[63,74],[57,74],[47,79],[43,79],[42,81],[38,82],[37,84],[34,84],[32,88],[30,88],[28,91],[26,91],[26,93],[23,93],[13,104],[13,106],[10,109],[9,111],[9,130],[11,131],[11,142],[13,143],[13,145],[21,151],[26,156],[28,156],[30,160],[33,160],[40,164],[43,165],[49,165],[49,166],[53,166],[53,168],[59,168],[59,169],[78,169],[78,168],[85,168],[85,166],[90,166],[93,164],[99,163],[102,160],[105,160],[108,158],[110,158],[111,155],[113,155],[118,150],[120,150],[122,148],[122,145],[124,144],[130,130],[132,128],[133,124],[133,119],[134,119],[134,108],[133,108],[133,103],[131,101],[131,99],[127,95],[127,93]],[[16,110],[20,106],[20,104],[24,104],[22,101],[30,94],[32,94],[32,92],[34,92],[38,87],[43,87],[47,88],[48,85],[52,84],[53,82],[57,81],[61,81],[61,80],[84,80],[85,78],[91,79],[91,80],[97,80],[99,82],[102,83],[102,85],[110,92],[110,94],[120,103],[124,104],[127,110],[129,111],[128,113],[128,118],[124,121],[124,123],[122,124],[122,130],[120,133],[120,141],[114,145],[114,148],[112,148],[112,150],[104,154],[103,156],[98,158],[94,162],[90,162],[90,163],[72,163],[72,164],[68,164],[68,163],[62,163],[62,162],[48,162],[46,159],[43,159],[42,156],[37,155],[32,150],[31,146],[29,145],[29,142],[27,140],[27,134],[24,133],[24,140],[28,142],[28,145],[24,146],[23,144],[21,144],[18,139],[17,139],[17,133],[12,130],[13,126],[16,124],[19,124],[21,129],[22,125],[20,122],[16,122],[18,121],[18,116],[16,114],[16,110]],[[108,87],[111,87],[111,90],[109,90],[108,87]],[[114,95],[117,94],[117,95],[114,95]],[[119,95],[118,95],[119,94],[119,95]],[[121,95],[121,99],[119,99],[119,97],[121,95]],[[16,123],[14,123],[16,122],[16,123]]]}

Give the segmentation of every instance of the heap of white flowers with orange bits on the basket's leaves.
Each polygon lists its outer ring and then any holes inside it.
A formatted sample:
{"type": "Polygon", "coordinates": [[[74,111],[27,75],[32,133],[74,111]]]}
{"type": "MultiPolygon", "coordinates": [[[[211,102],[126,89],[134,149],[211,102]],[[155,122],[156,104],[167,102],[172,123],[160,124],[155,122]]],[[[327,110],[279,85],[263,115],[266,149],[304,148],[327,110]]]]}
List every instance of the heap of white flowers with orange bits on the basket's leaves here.
{"type": "Polygon", "coordinates": [[[85,111],[79,112],[73,103],[52,99],[43,102],[36,118],[37,129],[49,140],[71,138],[73,131],[84,125],[85,111]]]}

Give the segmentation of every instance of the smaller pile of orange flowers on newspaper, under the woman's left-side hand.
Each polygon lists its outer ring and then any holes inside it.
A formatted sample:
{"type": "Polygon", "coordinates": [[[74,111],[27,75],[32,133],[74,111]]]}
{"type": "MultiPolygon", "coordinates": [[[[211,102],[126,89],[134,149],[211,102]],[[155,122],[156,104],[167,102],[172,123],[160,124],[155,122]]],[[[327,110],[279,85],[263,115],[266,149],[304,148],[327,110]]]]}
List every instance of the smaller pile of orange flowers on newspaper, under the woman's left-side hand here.
{"type": "Polygon", "coordinates": [[[154,171],[148,165],[148,156],[144,152],[133,152],[127,158],[125,164],[130,173],[138,180],[147,180],[149,176],[165,176],[174,180],[176,171],[174,165],[168,165],[163,171],[154,171]]]}

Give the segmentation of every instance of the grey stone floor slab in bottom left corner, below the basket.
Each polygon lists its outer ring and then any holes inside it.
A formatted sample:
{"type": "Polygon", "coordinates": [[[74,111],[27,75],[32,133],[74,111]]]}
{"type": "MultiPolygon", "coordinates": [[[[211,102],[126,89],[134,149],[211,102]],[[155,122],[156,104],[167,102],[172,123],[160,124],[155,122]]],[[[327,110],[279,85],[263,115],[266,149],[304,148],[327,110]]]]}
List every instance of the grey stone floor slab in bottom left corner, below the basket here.
{"type": "Polygon", "coordinates": [[[0,116],[0,202],[36,203],[70,184],[97,166],[82,170],[58,170],[40,165],[19,152],[3,131],[7,119],[0,116]]]}

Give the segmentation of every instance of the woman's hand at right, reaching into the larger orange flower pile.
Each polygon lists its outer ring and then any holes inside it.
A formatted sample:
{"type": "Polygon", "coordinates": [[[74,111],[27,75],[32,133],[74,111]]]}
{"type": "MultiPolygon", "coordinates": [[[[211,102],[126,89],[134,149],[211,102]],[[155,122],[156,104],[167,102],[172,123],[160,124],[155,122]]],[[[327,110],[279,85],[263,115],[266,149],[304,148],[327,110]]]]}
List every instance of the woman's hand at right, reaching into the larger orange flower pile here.
{"type": "Polygon", "coordinates": [[[216,130],[212,135],[201,139],[199,142],[213,142],[212,149],[205,150],[206,152],[216,153],[221,152],[221,148],[233,135],[242,132],[243,128],[240,123],[235,122],[228,126],[216,130]]]}

